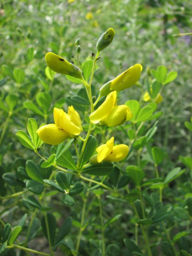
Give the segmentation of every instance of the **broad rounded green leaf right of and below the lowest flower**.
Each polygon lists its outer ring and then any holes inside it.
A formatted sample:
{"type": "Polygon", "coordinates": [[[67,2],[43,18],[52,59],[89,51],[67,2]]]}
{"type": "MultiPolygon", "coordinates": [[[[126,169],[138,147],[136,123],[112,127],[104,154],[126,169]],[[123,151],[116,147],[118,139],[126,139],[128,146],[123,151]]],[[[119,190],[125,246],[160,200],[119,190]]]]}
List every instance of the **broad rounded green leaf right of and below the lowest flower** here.
{"type": "Polygon", "coordinates": [[[139,186],[142,182],[145,174],[142,168],[134,165],[127,166],[127,175],[133,180],[136,186],[139,186]]]}

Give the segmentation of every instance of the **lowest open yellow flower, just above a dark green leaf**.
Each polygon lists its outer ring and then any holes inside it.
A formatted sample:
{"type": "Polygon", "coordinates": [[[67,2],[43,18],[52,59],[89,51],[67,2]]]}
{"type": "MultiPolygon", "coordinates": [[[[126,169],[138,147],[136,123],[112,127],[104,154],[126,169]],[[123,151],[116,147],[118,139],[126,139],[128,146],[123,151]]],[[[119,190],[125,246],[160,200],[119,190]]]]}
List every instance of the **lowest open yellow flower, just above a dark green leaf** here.
{"type": "Polygon", "coordinates": [[[112,137],[106,144],[99,146],[96,151],[97,155],[90,159],[91,164],[101,163],[102,161],[119,162],[127,157],[129,148],[124,144],[114,146],[114,137],[112,137]]]}

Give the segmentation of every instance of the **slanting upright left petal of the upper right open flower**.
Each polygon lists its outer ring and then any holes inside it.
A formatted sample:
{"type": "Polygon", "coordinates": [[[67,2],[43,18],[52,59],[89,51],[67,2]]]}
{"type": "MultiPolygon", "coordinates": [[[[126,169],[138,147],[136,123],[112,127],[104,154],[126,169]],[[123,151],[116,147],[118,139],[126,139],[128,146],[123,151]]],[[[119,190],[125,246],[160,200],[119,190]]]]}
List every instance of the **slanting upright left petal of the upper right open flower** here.
{"type": "Polygon", "coordinates": [[[90,114],[91,123],[98,123],[102,119],[104,119],[113,107],[117,104],[117,92],[111,92],[107,95],[106,100],[95,110],[92,114],[90,114]]]}

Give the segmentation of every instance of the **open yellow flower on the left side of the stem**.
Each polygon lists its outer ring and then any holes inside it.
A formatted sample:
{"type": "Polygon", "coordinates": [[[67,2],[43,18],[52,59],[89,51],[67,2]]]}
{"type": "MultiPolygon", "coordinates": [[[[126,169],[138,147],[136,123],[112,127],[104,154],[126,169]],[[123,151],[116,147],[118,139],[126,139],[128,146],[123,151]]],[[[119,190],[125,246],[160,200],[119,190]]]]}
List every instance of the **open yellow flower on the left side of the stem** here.
{"type": "Polygon", "coordinates": [[[37,133],[42,141],[50,145],[58,145],[67,138],[81,133],[81,119],[73,106],[68,108],[68,114],[54,107],[54,122],[41,126],[37,133]]]}

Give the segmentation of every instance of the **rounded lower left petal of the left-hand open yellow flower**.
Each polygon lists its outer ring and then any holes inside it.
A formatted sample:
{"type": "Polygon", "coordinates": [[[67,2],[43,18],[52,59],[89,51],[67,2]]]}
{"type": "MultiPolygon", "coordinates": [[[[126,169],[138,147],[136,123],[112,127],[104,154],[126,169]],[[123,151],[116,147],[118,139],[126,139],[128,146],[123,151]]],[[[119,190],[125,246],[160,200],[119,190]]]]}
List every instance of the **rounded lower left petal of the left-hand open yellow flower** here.
{"type": "Polygon", "coordinates": [[[41,126],[37,130],[38,136],[42,141],[50,145],[58,145],[64,139],[67,139],[71,136],[70,133],[62,130],[59,126],[51,123],[49,125],[41,126]]]}

